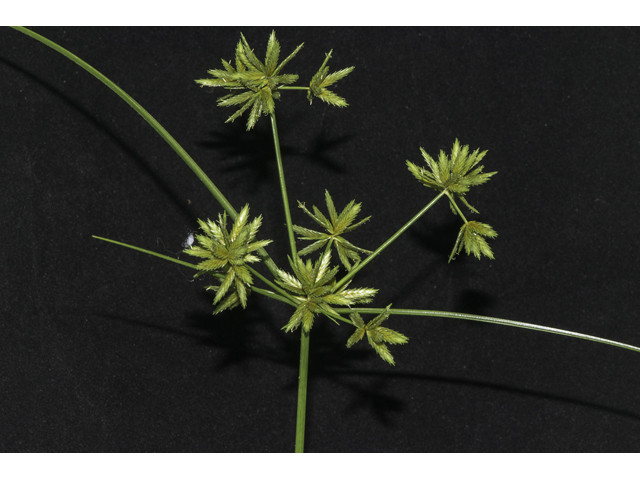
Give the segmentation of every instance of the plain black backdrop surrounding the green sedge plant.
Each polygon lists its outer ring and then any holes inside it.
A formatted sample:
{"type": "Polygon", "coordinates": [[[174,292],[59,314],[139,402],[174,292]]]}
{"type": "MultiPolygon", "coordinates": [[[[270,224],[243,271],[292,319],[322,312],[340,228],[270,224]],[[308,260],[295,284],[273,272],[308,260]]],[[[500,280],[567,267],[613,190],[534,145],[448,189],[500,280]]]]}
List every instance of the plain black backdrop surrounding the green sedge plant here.
{"type": "MultiPolygon", "coordinates": [[[[225,124],[223,92],[193,80],[231,60],[242,31],[259,56],[270,28],[35,28],[107,75],[162,123],[236,207],[261,213],[286,265],[267,118],[225,124]]],[[[277,103],[295,200],[356,199],[375,249],[434,193],[407,159],[455,138],[498,175],[473,189],[494,261],[447,264],[459,219],[440,203],[354,286],[373,306],[539,323],[640,345],[640,31],[585,28],[276,28],[306,85],[333,49],[338,109],[300,92],[277,103]]],[[[74,63],[0,31],[0,449],[293,450],[299,332],[289,307],[253,295],[211,316],[190,271],[99,242],[177,256],[220,207],[158,135],[74,63]],[[174,253],[168,253],[174,252],[174,253]]],[[[189,260],[186,255],[180,258],[189,260]]],[[[370,318],[370,317],[369,317],[370,318]]],[[[640,355],[527,330],[391,317],[410,337],[397,366],[346,326],[311,338],[312,452],[636,451],[640,355]]]]}

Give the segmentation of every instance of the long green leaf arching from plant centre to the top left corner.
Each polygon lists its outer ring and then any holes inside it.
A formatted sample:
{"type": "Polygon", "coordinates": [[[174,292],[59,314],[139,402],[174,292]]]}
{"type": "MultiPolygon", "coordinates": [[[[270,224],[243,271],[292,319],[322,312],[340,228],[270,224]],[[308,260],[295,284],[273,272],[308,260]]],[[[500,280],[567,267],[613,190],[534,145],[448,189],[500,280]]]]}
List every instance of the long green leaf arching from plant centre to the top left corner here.
{"type": "MultiPolygon", "coordinates": [[[[61,47],[57,43],[49,40],[46,37],[43,37],[42,35],[38,35],[32,30],[29,30],[28,28],[24,28],[24,27],[12,27],[12,28],[38,40],[39,42],[44,43],[46,46],[54,49],[56,52],[61,53],[72,62],[84,68],[87,72],[89,72],[91,75],[96,77],[98,80],[104,83],[111,90],[113,90],[120,98],[122,98],[125,102],[127,102],[127,104],[129,104],[129,106],[133,108],[142,118],[144,118],[145,121],[149,125],[151,125],[151,127],[156,132],[158,132],[158,135],[160,135],[162,139],[165,142],[167,142],[171,148],[173,148],[173,150],[178,154],[178,156],[187,164],[189,168],[191,168],[193,173],[196,174],[196,176],[200,179],[200,181],[204,184],[204,186],[207,187],[207,189],[213,194],[214,198],[218,201],[218,203],[222,206],[222,208],[224,208],[224,210],[229,214],[229,216],[231,216],[233,220],[236,219],[236,217],[238,216],[238,213],[233,208],[231,203],[229,203],[226,197],[222,194],[222,192],[218,189],[218,187],[216,187],[216,185],[211,181],[211,179],[207,176],[207,174],[204,173],[204,171],[195,162],[195,160],[191,158],[191,156],[186,152],[186,150],[182,148],[182,146],[169,134],[169,132],[167,132],[164,129],[164,127],[160,125],[160,123],[142,107],[142,105],[136,102],[131,96],[129,96],[129,94],[127,94],[124,90],[122,90],[118,85],[116,85],[109,78],[104,76],[98,70],[96,70],[91,65],[89,65],[87,62],[78,58],[73,53],[61,47]]],[[[261,248],[258,250],[258,254],[264,260],[267,268],[275,275],[277,266],[273,262],[273,260],[271,259],[267,251],[264,248],[261,248]]]]}

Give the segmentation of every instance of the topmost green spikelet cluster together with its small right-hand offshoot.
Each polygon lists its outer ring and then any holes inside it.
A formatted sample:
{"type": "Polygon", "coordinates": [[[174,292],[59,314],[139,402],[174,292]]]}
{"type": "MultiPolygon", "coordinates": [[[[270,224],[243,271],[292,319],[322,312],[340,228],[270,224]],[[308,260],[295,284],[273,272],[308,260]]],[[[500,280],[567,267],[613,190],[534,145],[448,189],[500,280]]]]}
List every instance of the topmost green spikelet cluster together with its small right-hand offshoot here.
{"type": "MultiPolygon", "coordinates": [[[[236,47],[235,67],[230,62],[222,60],[224,70],[213,69],[208,73],[213,78],[198,79],[196,82],[203,87],[222,87],[234,91],[218,99],[218,105],[222,107],[240,106],[231,115],[227,122],[233,122],[244,112],[249,110],[247,130],[251,130],[261,115],[270,115],[275,112],[275,100],[280,98],[281,87],[291,85],[298,80],[298,75],[282,73],[282,69],[300,51],[303,44],[278,63],[280,57],[280,43],[276,39],[275,32],[271,33],[267,42],[267,53],[264,62],[261,62],[253,53],[249,43],[240,36],[236,47]],[[241,91],[238,93],[238,91],[241,91]]],[[[309,102],[313,97],[338,107],[347,106],[344,98],[339,97],[327,87],[351,73],[354,67],[345,68],[334,73],[329,73],[327,62],[331,52],[327,54],[320,70],[311,79],[308,96],[309,102]]]]}

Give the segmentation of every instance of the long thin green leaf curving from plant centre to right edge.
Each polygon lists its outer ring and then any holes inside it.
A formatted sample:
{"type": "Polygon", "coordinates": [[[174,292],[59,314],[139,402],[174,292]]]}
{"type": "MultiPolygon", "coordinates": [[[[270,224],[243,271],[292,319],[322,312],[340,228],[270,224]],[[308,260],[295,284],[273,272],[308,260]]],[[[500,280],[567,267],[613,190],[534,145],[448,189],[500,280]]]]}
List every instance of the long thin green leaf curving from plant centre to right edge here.
{"type": "MultiPolygon", "coordinates": [[[[384,308],[336,308],[338,313],[371,313],[374,315],[380,314],[384,311],[384,308]]],[[[640,347],[628,345],[626,343],[615,342],[606,338],[595,337],[593,335],[585,335],[584,333],[572,332],[570,330],[562,330],[559,328],[544,327],[542,325],[536,325],[533,323],[516,322],[514,320],[505,320],[503,318],[485,317],[483,315],[471,315],[468,313],[456,313],[456,312],[441,312],[438,310],[409,310],[392,308],[389,310],[392,315],[418,315],[425,317],[440,317],[440,318],[457,318],[460,320],[472,320],[475,322],[494,323],[496,325],[505,325],[507,327],[524,328],[527,330],[536,330],[538,332],[554,333],[556,335],[564,335],[567,337],[579,338],[581,340],[590,340],[592,342],[604,343],[605,345],[611,345],[619,348],[626,348],[627,350],[633,350],[634,352],[640,352],[640,347]]]]}

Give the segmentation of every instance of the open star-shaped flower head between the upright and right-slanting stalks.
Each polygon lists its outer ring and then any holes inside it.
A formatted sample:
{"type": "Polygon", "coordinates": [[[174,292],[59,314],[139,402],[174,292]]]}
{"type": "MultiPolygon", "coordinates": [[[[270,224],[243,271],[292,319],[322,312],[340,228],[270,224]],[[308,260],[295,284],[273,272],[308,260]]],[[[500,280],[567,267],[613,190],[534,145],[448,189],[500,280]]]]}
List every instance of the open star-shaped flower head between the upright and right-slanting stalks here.
{"type": "Polygon", "coordinates": [[[329,195],[329,192],[326,190],[324,193],[325,201],[327,203],[327,210],[329,211],[329,218],[324,216],[322,212],[320,212],[318,207],[314,206],[314,213],[311,213],[309,210],[307,210],[303,203],[298,202],[298,206],[318,225],[320,225],[327,231],[327,233],[317,232],[315,230],[294,225],[293,230],[298,235],[301,235],[299,237],[301,240],[312,240],[314,242],[311,245],[300,250],[298,254],[301,256],[306,255],[318,250],[319,248],[324,247],[328,242],[333,241],[333,245],[336,247],[340,261],[347,270],[351,270],[352,265],[350,261],[353,261],[357,264],[358,262],[360,262],[359,253],[368,255],[371,252],[369,250],[356,247],[351,242],[348,242],[347,240],[342,238],[341,235],[358,228],[360,225],[367,222],[371,217],[367,217],[364,220],[356,223],[355,225],[352,225],[356,216],[358,215],[358,213],[360,213],[361,204],[356,203],[355,200],[352,200],[346,207],[344,207],[342,213],[338,215],[338,212],[333,205],[331,195],[329,195]]]}

